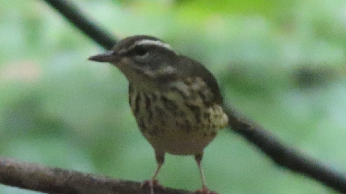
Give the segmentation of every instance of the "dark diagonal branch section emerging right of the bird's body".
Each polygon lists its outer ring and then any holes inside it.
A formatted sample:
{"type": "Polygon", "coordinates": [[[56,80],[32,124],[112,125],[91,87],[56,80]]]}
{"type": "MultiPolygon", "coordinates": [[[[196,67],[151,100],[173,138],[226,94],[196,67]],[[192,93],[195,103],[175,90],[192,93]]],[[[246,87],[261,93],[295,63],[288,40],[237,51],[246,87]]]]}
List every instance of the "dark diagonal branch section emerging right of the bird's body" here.
{"type": "Polygon", "coordinates": [[[335,191],[346,193],[346,174],[338,172],[316,159],[303,155],[294,148],[280,142],[271,133],[251,121],[242,118],[238,113],[225,105],[229,117],[229,126],[237,134],[260,148],[275,164],[290,171],[313,178],[335,191]]]}

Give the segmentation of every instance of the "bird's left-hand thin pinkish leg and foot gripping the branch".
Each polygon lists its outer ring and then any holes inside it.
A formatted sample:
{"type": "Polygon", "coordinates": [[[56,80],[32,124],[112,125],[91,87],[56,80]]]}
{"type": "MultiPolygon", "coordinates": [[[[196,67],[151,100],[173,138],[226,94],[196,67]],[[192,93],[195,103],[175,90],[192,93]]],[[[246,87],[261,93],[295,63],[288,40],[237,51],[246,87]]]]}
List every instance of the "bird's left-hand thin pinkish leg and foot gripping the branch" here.
{"type": "Polygon", "coordinates": [[[142,187],[149,186],[150,194],[154,194],[154,188],[164,190],[164,186],[162,186],[162,185],[160,185],[160,183],[158,183],[158,181],[156,180],[156,176],[157,176],[158,171],[160,171],[160,168],[165,161],[165,153],[155,151],[155,158],[156,158],[156,162],[157,162],[157,168],[155,170],[153,177],[150,180],[144,181],[141,185],[142,187]]]}

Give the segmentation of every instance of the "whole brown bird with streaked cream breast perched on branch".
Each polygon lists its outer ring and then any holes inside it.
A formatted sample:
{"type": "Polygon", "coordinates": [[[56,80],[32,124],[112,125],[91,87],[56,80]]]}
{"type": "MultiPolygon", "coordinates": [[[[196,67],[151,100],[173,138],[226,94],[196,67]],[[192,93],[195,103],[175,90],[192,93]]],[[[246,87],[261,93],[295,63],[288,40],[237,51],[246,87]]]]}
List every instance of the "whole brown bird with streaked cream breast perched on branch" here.
{"type": "Polygon", "coordinates": [[[194,155],[202,179],[203,149],[227,126],[216,79],[199,62],[178,54],[170,45],[151,36],[131,36],[104,54],[89,58],[110,62],[129,81],[129,104],[143,136],[153,146],[157,169],[149,185],[159,186],[156,175],[165,153],[194,155]]]}

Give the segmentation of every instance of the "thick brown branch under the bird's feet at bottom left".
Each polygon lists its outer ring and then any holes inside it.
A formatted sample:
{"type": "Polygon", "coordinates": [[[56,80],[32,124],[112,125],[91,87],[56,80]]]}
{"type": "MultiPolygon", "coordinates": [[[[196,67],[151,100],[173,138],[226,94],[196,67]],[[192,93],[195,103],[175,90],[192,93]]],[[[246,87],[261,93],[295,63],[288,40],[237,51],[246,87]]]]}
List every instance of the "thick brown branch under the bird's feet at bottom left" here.
{"type": "MultiPolygon", "coordinates": [[[[0,183],[50,194],[148,194],[140,183],[105,176],[50,168],[0,157],[0,183]]],[[[155,194],[193,194],[166,188],[155,194]]]]}

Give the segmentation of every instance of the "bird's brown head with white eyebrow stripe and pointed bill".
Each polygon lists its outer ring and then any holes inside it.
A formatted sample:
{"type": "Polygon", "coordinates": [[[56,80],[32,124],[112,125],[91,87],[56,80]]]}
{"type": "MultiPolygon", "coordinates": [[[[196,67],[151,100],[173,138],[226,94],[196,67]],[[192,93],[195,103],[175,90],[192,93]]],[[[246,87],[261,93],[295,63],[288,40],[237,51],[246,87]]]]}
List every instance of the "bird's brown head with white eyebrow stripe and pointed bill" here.
{"type": "Polygon", "coordinates": [[[110,62],[122,71],[133,84],[155,87],[162,81],[176,78],[179,55],[158,38],[131,36],[121,40],[111,50],[89,58],[92,61],[110,62]]]}

